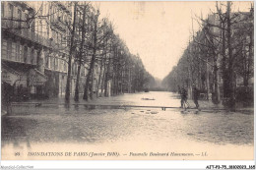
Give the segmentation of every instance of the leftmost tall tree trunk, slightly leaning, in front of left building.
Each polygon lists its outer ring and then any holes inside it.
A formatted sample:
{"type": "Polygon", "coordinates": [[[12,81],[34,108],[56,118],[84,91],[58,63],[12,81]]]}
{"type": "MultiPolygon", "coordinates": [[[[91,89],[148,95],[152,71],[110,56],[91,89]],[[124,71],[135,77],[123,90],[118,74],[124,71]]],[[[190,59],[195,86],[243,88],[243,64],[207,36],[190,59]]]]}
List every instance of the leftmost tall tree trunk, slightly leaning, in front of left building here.
{"type": "Polygon", "coordinates": [[[72,61],[72,54],[73,54],[73,43],[74,43],[74,36],[75,36],[75,28],[76,28],[76,16],[77,16],[77,2],[75,2],[74,6],[74,21],[73,21],[73,28],[71,32],[71,42],[70,42],[70,51],[69,51],[69,60],[68,60],[68,76],[67,76],[67,85],[66,85],[66,94],[65,94],[65,102],[70,102],[70,82],[71,82],[71,61],[72,61]]]}

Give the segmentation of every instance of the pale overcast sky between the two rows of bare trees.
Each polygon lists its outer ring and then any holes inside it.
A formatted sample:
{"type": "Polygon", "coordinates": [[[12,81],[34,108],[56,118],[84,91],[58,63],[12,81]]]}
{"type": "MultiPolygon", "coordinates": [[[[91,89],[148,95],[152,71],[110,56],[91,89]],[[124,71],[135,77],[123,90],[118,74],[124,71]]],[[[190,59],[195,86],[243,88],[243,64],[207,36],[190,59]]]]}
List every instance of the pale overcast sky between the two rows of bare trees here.
{"type": "MultiPolygon", "coordinates": [[[[192,31],[192,17],[206,17],[215,2],[96,2],[101,16],[108,16],[115,32],[130,52],[139,54],[146,70],[163,79],[181,57],[192,31]]],[[[248,11],[249,2],[236,2],[233,9],[248,11]]],[[[199,26],[193,22],[194,30],[199,26]]]]}

